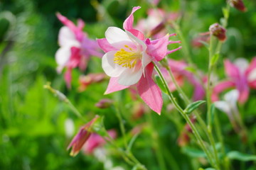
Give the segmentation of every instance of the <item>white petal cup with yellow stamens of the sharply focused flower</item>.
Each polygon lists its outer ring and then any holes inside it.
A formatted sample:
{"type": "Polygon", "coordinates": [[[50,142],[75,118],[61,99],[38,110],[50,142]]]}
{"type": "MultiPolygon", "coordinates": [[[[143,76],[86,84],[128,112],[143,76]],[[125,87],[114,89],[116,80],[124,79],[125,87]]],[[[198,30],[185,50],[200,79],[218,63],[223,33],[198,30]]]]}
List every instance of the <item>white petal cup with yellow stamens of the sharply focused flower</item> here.
{"type": "Polygon", "coordinates": [[[107,42],[116,50],[102,57],[102,68],[109,77],[118,77],[118,83],[124,86],[136,84],[152,60],[146,54],[146,44],[139,38],[116,27],[110,27],[105,33],[107,42]]]}

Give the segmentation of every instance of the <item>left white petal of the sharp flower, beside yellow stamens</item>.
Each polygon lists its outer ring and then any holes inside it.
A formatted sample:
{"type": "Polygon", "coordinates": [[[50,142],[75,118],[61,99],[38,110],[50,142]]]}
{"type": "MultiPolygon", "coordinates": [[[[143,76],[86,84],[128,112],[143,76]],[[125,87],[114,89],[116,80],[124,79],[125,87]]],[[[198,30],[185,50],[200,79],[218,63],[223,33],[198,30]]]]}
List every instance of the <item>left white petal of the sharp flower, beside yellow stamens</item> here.
{"type": "Polygon", "coordinates": [[[117,51],[107,52],[102,57],[102,68],[109,77],[119,77],[119,75],[122,74],[124,69],[127,69],[114,63],[114,54],[116,52],[117,51]]]}

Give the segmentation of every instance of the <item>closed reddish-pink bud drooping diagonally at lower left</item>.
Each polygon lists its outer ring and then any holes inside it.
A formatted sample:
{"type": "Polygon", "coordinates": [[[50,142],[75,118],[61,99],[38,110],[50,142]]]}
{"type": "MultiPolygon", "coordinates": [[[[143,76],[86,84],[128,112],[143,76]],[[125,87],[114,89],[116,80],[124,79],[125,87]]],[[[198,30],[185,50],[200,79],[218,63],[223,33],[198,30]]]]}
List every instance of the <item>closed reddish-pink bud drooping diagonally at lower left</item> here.
{"type": "Polygon", "coordinates": [[[70,142],[70,145],[68,145],[68,149],[70,149],[70,147],[72,147],[72,150],[70,152],[71,156],[75,157],[75,155],[78,154],[78,152],[80,151],[82,146],[88,140],[88,138],[92,134],[92,125],[95,123],[97,118],[99,118],[98,115],[96,115],[95,118],[93,118],[89,123],[82,126],[82,128],[80,128],[78,134],[75,135],[73,140],[70,142]]]}

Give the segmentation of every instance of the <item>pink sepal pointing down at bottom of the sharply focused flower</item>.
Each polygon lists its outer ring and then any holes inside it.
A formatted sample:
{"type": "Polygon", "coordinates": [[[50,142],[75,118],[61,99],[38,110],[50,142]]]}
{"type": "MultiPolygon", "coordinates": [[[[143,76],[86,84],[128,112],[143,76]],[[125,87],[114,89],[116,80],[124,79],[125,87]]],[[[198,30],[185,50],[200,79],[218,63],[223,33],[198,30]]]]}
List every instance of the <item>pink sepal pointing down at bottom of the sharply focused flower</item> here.
{"type": "Polygon", "coordinates": [[[145,76],[139,80],[137,84],[137,90],[142,100],[151,108],[153,111],[161,114],[161,108],[163,106],[163,99],[159,86],[155,84],[151,78],[154,65],[149,63],[145,68],[145,76]]]}

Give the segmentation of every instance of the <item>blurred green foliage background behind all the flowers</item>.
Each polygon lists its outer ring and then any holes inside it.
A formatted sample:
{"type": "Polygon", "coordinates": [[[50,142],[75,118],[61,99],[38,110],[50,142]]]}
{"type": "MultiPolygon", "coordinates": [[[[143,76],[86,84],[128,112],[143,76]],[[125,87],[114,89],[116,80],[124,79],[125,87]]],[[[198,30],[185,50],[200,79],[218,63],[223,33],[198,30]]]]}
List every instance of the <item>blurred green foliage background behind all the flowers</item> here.
{"type": "MultiPolygon", "coordinates": [[[[65,87],[63,74],[57,74],[55,68],[55,52],[58,50],[58,30],[62,26],[55,16],[58,11],[71,21],[82,18],[85,21],[85,32],[92,39],[103,38],[108,26],[122,28],[122,22],[132,10],[132,6],[142,6],[135,14],[135,20],[146,17],[146,10],[150,8],[148,1],[85,1],[85,0],[1,0],[0,1],[0,169],[103,169],[102,163],[91,156],[78,154],[69,156],[66,147],[71,138],[65,134],[65,121],[71,118],[75,123],[75,132],[82,125],[82,121],[73,115],[70,108],[58,101],[43,85],[47,81],[59,91],[62,91],[76,108],[87,116],[105,115],[107,128],[117,128],[117,118],[112,115],[112,108],[100,110],[95,103],[100,98],[106,98],[103,93],[107,81],[103,84],[89,86],[87,91],[78,92],[78,77],[82,74],[78,69],[73,71],[72,89],[65,87]],[[107,14],[101,15],[97,3],[105,8],[107,14]]],[[[163,0],[159,6],[169,11],[186,11],[181,22],[181,29],[187,42],[191,42],[198,33],[208,31],[208,27],[218,22],[222,17],[223,0],[163,0]]],[[[256,47],[256,1],[245,1],[247,13],[231,8],[228,23],[228,40],[223,45],[223,57],[234,60],[245,57],[250,60],[255,56],[256,47]]],[[[99,6],[98,6],[99,7],[99,6]]],[[[195,64],[206,71],[208,50],[190,47],[195,64]]],[[[171,54],[176,59],[182,58],[182,52],[171,54]]],[[[222,60],[218,62],[220,76],[224,77],[222,60]]],[[[90,61],[86,72],[102,72],[100,59],[90,61]]],[[[83,74],[86,74],[84,72],[83,74]]],[[[189,89],[189,88],[188,88],[189,89]]],[[[192,94],[187,90],[188,94],[192,94]]],[[[250,140],[256,141],[256,113],[255,91],[251,92],[250,101],[246,103],[244,120],[250,130],[250,140]]],[[[127,91],[120,92],[121,95],[127,91]]],[[[112,98],[113,95],[107,96],[112,98]]],[[[123,101],[125,109],[133,105],[128,95],[123,101]]],[[[166,103],[168,104],[168,103],[166,103]]],[[[168,111],[166,111],[168,113],[168,111]]],[[[127,113],[131,114],[131,113],[127,113]]],[[[157,123],[156,132],[163,139],[165,146],[173,156],[172,167],[193,169],[198,167],[193,156],[184,153],[177,147],[178,130],[172,123],[167,123],[166,115],[158,116],[151,113],[157,123]],[[174,163],[173,163],[174,162],[174,163]],[[176,163],[175,163],[176,162],[176,163]]],[[[176,114],[176,113],[173,113],[176,114]]],[[[144,123],[146,120],[136,120],[133,125],[144,123]]],[[[127,129],[132,124],[127,123],[127,129]]],[[[223,115],[223,131],[232,130],[227,118],[223,115]]],[[[149,132],[139,137],[135,145],[134,154],[149,169],[159,169],[151,148],[152,140],[148,140],[149,132]]],[[[231,134],[226,139],[230,149],[237,148],[237,139],[231,134]],[[234,142],[234,143],[233,143],[234,142]]],[[[240,149],[240,147],[238,147],[240,149]]],[[[169,154],[169,153],[166,153],[169,154]]],[[[117,165],[129,169],[124,162],[117,165]]],[[[121,159],[122,160],[122,159],[121,159]]],[[[234,164],[237,164],[236,162],[234,164]]],[[[170,165],[171,166],[171,165],[170,165]]]]}

